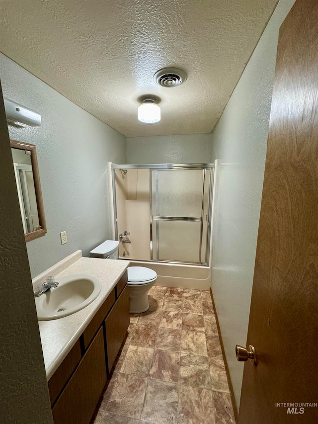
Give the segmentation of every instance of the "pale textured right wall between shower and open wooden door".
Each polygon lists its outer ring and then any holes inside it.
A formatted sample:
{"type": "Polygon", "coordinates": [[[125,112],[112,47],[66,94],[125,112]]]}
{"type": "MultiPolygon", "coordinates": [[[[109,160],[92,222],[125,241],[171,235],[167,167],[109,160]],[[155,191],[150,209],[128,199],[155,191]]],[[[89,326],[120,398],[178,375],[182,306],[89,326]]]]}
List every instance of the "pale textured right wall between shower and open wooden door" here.
{"type": "Polygon", "coordinates": [[[220,162],[212,291],[238,405],[243,363],[235,345],[246,343],[278,31],[293,3],[278,3],[212,133],[220,162]]]}

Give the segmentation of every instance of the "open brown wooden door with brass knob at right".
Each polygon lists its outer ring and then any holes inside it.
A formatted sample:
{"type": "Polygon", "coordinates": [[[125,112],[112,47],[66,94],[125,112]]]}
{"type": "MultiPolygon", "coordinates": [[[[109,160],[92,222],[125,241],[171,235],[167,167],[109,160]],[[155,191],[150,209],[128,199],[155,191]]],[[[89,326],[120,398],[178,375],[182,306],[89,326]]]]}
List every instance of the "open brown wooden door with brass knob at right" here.
{"type": "Polygon", "coordinates": [[[317,0],[297,0],[279,33],[249,344],[239,423],[318,423],[317,407],[275,406],[318,402],[317,0]]]}

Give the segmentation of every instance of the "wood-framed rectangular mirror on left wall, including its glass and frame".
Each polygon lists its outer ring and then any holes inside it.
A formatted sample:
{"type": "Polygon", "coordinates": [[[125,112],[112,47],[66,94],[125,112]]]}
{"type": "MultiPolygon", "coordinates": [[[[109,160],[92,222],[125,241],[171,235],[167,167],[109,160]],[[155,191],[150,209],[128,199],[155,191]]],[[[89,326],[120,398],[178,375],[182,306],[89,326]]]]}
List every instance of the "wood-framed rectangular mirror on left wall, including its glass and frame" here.
{"type": "Polygon", "coordinates": [[[10,140],[25,241],[46,234],[38,161],[34,144],[10,140]]]}

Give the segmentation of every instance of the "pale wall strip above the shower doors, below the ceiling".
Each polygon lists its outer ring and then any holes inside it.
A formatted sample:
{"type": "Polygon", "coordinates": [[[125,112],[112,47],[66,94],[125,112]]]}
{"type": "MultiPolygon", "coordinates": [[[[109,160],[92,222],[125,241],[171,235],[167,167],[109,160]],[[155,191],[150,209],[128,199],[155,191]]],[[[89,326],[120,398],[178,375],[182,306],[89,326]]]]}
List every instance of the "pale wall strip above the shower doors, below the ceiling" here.
{"type": "Polygon", "coordinates": [[[127,138],[127,164],[210,162],[211,134],[127,138]]]}

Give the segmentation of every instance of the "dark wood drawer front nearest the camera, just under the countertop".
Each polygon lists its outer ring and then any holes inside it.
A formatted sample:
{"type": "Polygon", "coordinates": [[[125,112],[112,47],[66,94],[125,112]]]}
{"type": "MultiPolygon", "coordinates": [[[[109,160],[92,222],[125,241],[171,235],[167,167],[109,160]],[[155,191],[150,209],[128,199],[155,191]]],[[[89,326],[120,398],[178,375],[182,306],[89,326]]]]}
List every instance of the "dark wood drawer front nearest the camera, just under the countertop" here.
{"type": "Polygon", "coordinates": [[[59,368],[52,375],[48,381],[51,405],[55,402],[59,396],[61,390],[66,385],[66,382],[70,378],[71,374],[75,370],[75,367],[79,363],[81,358],[80,343],[79,340],[72,347],[64,361],[61,363],[59,368]]]}

